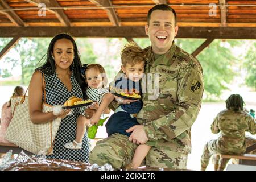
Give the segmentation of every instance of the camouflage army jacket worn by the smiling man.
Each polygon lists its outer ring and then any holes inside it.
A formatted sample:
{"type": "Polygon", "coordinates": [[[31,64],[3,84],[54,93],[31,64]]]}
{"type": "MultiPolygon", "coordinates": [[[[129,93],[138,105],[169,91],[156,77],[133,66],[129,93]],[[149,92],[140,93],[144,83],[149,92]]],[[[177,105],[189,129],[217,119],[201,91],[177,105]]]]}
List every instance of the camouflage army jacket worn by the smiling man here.
{"type": "MultiPolygon", "coordinates": [[[[191,126],[199,113],[204,91],[201,65],[175,43],[156,60],[151,47],[147,47],[146,51],[146,77],[152,77],[154,82],[154,74],[159,75],[157,98],[152,99],[152,94],[144,93],[143,107],[137,115],[137,121],[144,125],[149,139],[146,144],[189,153],[191,126]]],[[[142,90],[145,87],[143,84],[142,81],[142,90]]],[[[109,107],[114,110],[118,104],[114,101],[109,107]]]]}

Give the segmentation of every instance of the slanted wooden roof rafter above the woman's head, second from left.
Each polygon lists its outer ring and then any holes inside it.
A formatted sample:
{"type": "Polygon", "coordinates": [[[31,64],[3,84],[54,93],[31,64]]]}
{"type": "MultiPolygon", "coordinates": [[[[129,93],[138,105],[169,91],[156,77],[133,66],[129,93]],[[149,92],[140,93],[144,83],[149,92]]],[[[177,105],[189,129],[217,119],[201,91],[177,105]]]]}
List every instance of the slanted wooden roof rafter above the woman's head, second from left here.
{"type": "Polygon", "coordinates": [[[63,9],[51,10],[47,8],[47,7],[61,7],[56,0],[25,0],[25,1],[32,3],[33,5],[36,5],[36,6],[38,6],[39,3],[44,3],[46,5],[46,10],[51,11],[52,13],[55,13],[55,15],[57,16],[57,19],[60,20],[63,26],[65,27],[71,26],[71,22],[68,19],[68,16],[64,13],[63,9]]]}

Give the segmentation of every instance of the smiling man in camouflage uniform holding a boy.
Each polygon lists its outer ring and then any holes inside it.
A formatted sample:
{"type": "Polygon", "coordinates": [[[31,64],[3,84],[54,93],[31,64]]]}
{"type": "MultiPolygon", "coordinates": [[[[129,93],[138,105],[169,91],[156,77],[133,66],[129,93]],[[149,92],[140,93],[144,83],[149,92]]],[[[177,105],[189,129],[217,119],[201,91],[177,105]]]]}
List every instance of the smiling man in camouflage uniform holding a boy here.
{"type": "MultiPolygon", "coordinates": [[[[148,12],[145,73],[159,75],[159,93],[154,100],[143,94],[143,107],[137,115],[141,125],[126,135],[113,134],[97,142],[90,163],[112,164],[120,169],[131,162],[137,144],[152,146],[146,165],[185,169],[191,152],[191,126],[197,118],[203,96],[203,71],[199,61],[177,47],[176,13],[168,5],[156,5],[148,12]]],[[[154,76],[152,76],[154,77],[154,76]]],[[[117,107],[112,102],[114,108],[117,107]]]]}

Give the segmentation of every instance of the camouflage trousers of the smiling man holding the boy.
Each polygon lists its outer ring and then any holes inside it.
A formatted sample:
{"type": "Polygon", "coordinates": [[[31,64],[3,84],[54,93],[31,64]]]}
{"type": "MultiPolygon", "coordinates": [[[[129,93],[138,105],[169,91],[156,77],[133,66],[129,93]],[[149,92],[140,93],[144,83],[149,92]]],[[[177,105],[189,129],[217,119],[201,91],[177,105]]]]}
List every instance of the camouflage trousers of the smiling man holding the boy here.
{"type": "MultiPolygon", "coordinates": [[[[97,142],[90,152],[89,162],[100,166],[109,163],[114,169],[121,169],[131,163],[136,148],[137,145],[130,142],[126,135],[113,134],[97,142]]],[[[148,167],[185,169],[187,158],[188,154],[152,147],[146,156],[146,165],[148,167]]]]}

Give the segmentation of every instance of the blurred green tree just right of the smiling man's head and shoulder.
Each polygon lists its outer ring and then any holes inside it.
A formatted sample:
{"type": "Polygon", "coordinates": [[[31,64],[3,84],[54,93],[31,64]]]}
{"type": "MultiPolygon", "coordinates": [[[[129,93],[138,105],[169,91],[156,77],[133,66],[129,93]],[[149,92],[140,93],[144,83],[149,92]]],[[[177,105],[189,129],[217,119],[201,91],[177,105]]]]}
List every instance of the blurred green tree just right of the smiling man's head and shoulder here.
{"type": "MultiPolygon", "coordinates": [[[[203,41],[200,39],[178,39],[177,45],[188,53],[192,53],[203,41]]],[[[197,56],[203,67],[207,100],[219,98],[222,91],[228,89],[226,85],[237,75],[233,67],[238,63],[238,58],[233,55],[232,48],[239,45],[240,42],[237,40],[223,42],[216,39],[209,45],[209,48],[204,49],[197,56]]]]}

